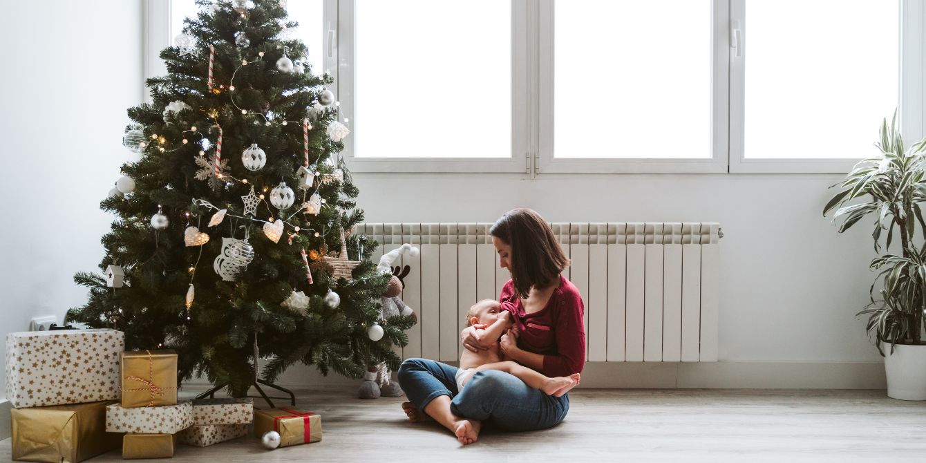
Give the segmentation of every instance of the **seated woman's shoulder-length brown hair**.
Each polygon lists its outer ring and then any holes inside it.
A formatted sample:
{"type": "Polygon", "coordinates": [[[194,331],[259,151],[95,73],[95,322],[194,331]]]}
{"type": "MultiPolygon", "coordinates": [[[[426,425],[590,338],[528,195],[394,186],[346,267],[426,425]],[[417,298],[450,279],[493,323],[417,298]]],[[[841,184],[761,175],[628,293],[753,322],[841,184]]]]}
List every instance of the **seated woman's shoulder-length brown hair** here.
{"type": "Polygon", "coordinates": [[[531,209],[507,211],[489,234],[511,246],[511,282],[522,298],[528,297],[532,286],[543,288],[569,266],[550,226],[531,209]]]}

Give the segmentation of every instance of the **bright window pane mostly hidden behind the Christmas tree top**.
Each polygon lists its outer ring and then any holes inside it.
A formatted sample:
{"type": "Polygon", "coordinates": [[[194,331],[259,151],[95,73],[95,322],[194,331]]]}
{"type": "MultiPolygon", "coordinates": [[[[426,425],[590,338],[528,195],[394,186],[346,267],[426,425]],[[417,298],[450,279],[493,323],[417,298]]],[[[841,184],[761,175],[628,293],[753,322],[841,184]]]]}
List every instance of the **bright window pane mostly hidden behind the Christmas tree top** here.
{"type": "MultiPolygon", "coordinates": [[[[223,7],[230,7],[224,5],[223,7]]],[[[299,39],[308,47],[308,64],[312,72],[321,74],[322,69],[322,0],[294,0],[287,3],[290,19],[299,23],[299,27],[289,32],[291,37],[299,39]]],[[[170,44],[183,31],[183,19],[194,18],[198,6],[194,0],[173,0],[170,4],[170,44]]],[[[294,56],[290,56],[294,57],[294,56]]]]}

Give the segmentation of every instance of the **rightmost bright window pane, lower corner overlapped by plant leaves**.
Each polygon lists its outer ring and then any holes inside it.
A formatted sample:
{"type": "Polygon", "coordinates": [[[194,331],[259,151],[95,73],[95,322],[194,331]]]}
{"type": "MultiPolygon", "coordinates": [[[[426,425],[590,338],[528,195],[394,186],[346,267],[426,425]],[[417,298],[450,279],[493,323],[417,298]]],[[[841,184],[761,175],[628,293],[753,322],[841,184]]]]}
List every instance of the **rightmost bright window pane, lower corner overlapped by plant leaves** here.
{"type": "Polygon", "coordinates": [[[897,106],[890,0],[745,5],[745,157],[865,157],[897,106]]]}

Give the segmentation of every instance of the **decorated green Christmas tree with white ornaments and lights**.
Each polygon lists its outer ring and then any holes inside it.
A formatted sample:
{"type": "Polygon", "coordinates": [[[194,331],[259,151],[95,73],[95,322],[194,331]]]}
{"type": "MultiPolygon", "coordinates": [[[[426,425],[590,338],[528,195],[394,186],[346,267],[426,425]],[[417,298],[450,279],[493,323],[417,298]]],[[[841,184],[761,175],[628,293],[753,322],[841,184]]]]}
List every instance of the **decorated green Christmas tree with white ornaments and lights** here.
{"type": "Polygon", "coordinates": [[[130,350],[175,349],[181,380],[236,396],[294,363],[397,369],[414,320],[381,319],[390,275],[351,235],[363,212],[332,77],[309,69],[281,0],[197,5],[161,52],[169,74],[147,81],[153,103],[129,109],[134,158],[100,204],[118,216],[106,274],[75,276],[90,295],[67,319],[123,331],[130,350]]]}

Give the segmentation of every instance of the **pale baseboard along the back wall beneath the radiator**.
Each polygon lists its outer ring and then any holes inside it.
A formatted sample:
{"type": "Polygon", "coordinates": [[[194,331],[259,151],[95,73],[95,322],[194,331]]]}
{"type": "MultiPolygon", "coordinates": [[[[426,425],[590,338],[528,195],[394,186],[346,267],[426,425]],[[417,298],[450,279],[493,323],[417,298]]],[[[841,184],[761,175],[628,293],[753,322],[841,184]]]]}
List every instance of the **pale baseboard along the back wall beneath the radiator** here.
{"type": "MultiPolygon", "coordinates": [[[[454,365],[456,362],[446,362],[454,365]]],[[[189,382],[205,383],[204,381],[189,382]]],[[[285,387],[358,387],[360,380],[322,376],[295,366],[282,374],[285,387]]],[[[582,384],[589,388],[639,389],[885,389],[884,362],[588,362],[582,384]]]]}

